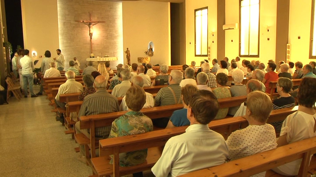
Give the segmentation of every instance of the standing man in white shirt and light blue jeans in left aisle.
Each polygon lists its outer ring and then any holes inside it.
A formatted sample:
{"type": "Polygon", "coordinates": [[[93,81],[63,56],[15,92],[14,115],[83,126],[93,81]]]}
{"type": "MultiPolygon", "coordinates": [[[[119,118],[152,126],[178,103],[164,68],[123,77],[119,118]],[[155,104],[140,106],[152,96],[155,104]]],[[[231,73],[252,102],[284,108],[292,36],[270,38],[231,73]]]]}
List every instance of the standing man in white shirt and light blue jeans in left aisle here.
{"type": "Polygon", "coordinates": [[[31,57],[29,57],[30,51],[25,49],[23,53],[24,53],[24,57],[20,59],[20,64],[22,66],[22,77],[23,77],[23,83],[24,83],[24,98],[27,98],[27,83],[30,88],[31,97],[37,97],[38,95],[34,94],[33,92],[34,64],[31,57]]]}

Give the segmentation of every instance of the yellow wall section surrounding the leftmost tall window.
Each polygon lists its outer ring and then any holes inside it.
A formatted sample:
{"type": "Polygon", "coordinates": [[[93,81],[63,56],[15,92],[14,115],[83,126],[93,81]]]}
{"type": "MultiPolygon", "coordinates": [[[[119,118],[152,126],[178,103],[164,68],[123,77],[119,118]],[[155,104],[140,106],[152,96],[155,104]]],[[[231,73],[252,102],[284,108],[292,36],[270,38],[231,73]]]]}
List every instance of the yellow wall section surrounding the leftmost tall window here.
{"type": "MultiPolygon", "coordinates": [[[[185,0],[185,48],[187,65],[191,65],[191,61],[195,61],[197,63],[196,66],[199,66],[200,61],[208,59],[208,57],[195,56],[194,10],[203,7],[208,7],[208,46],[210,47],[210,59],[212,60],[217,56],[217,0],[185,0]],[[212,36],[212,32],[214,32],[214,36],[212,36]]],[[[212,66],[211,62],[210,65],[212,66]]]]}

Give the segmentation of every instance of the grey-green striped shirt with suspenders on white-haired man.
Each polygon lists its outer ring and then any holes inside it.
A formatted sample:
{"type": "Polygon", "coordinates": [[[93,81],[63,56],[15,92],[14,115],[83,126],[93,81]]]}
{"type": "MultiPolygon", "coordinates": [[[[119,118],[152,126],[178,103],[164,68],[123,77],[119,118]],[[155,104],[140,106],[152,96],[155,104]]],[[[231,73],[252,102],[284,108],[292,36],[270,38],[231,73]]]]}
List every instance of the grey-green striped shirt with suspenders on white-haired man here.
{"type": "Polygon", "coordinates": [[[181,87],[179,84],[171,84],[167,87],[161,88],[155,96],[155,106],[167,106],[174,104],[182,104],[181,100],[181,87]],[[174,100],[173,93],[175,94],[176,101],[174,100]]]}

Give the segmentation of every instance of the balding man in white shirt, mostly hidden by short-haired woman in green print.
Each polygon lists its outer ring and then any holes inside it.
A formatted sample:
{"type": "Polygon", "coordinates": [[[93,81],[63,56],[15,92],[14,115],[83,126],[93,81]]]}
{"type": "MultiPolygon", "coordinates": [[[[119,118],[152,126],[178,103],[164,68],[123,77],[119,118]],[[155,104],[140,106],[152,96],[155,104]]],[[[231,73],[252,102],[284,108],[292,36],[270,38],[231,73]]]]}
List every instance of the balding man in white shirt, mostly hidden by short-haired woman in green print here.
{"type": "MultiPolygon", "coordinates": [[[[132,78],[132,83],[131,86],[133,85],[138,85],[139,87],[143,88],[144,87],[144,80],[142,77],[140,76],[134,76],[132,78]]],[[[145,92],[146,94],[146,103],[144,104],[143,108],[150,108],[150,107],[154,107],[155,106],[155,100],[152,94],[145,92]]],[[[119,106],[119,111],[127,111],[128,107],[126,105],[126,96],[123,97],[122,99],[122,103],[119,106]]]]}

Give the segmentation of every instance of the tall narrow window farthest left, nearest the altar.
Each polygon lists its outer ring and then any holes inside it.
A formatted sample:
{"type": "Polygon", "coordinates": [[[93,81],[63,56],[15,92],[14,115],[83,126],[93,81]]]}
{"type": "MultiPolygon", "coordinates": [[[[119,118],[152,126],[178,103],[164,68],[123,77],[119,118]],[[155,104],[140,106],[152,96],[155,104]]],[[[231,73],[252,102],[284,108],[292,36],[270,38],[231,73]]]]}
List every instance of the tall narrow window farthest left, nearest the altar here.
{"type": "Polygon", "coordinates": [[[208,17],[207,7],[195,9],[195,56],[207,56],[208,17]]]}

